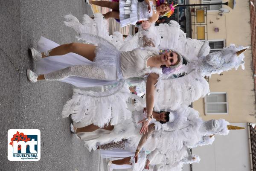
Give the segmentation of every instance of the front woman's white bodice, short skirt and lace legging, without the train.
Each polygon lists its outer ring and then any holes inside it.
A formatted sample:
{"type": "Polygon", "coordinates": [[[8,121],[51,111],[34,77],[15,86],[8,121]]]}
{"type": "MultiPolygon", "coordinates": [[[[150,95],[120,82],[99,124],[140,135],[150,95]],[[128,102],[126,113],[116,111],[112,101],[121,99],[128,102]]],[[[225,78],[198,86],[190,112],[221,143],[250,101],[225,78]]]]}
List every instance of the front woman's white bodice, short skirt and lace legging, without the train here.
{"type": "Polygon", "coordinates": [[[146,73],[157,72],[160,68],[147,66],[148,58],[157,55],[143,49],[119,52],[111,43],[99,43],[96,57],[91,65],[75,65],[44,74],[46,80],[63,80],[69,77],[82,77],[96,80],[116,81],[122,78],[143,77],[146,73]]]}

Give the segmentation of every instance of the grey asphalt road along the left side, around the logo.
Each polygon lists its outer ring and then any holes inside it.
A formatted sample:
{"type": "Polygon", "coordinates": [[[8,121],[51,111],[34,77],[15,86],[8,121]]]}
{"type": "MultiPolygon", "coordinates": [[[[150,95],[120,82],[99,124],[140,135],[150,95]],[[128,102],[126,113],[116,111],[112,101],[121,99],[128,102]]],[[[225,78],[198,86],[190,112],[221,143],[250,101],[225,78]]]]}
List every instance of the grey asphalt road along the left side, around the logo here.
{"type": "MultiPolygon", "coordinates": [[[[61,110],[72,85],[58,81],[30,83],[26,70],[35,70],[28,48],[40,36],[59,44],[76,41],[64,26],[64,15],[92,15],[84,0],[0,0],[0,171],[99,171],[98,152],[87,151],[70,133],[61,110]],[[9,129],[41,130],[39,161],[9,161],[9,129]]],[[[104,163],[103,163],[104,164],[104,163]]],[[[105,169],[103,169],[105,170],[105,169]]]]}

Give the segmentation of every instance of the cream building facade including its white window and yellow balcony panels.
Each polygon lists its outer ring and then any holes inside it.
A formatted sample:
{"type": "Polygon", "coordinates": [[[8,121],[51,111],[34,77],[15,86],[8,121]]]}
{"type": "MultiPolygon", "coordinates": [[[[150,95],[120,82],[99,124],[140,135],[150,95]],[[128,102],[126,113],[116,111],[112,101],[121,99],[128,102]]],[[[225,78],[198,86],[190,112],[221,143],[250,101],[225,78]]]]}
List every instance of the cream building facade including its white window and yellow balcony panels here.
{"type": "MultiPolygon", "coordinates": [[[[190,0],[190,4],[221,3],[221,0],[190,0]]],[[[251,36],[250,0],[236,0],[234,9],[226,5],[195,6],[191,12],[192,38],[208,40],[211,52],[230,43],[250,46],[244,52],[245,69],[241,67],[221,75],[212,75],[209,80],[211,93],[193,102],[193,108],[204,120],[226,119],[233,123],[256,122],[255,73],[251,36]],[[201,11],[200,11],[201,9],[201,11]]]]}

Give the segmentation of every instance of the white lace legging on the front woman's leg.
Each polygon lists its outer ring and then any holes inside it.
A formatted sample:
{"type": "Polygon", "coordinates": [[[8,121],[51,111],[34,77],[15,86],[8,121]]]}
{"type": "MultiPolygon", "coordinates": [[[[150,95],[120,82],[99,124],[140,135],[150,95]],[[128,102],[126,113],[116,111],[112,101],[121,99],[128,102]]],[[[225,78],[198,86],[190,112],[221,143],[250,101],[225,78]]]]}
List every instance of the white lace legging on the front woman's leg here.
{"type": "Polygon", "coordinates": [[[94,65],[75,65],[44,75],[46,80],[62,80],[67,77],[83,77],[113,81],[117,79],[115,67],[99,68],[94,65]]]}

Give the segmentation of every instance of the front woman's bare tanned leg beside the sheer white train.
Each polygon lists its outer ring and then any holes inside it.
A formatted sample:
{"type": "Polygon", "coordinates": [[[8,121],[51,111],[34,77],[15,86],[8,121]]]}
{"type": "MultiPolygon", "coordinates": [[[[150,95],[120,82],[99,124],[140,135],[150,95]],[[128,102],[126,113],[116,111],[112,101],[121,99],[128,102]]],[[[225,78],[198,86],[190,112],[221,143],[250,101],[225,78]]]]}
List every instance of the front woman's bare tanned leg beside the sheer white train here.
{"type": "Polygon", "coordinates": [[[42,52],[42,58],[47,56],[56,56],[56,55],[65,55],[67,53],[73,52],[78,55],[87,58],[90,61],[93,61],[95,58],[95,48],[96,46],[85,43],[69,43],[63,44],[58,47],[55,47],[47,52],[42,52]]]}

